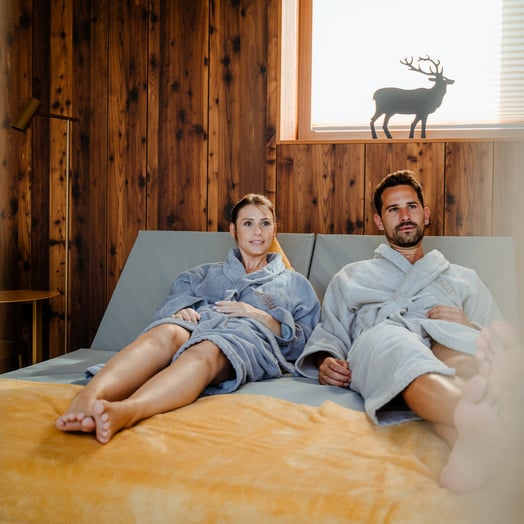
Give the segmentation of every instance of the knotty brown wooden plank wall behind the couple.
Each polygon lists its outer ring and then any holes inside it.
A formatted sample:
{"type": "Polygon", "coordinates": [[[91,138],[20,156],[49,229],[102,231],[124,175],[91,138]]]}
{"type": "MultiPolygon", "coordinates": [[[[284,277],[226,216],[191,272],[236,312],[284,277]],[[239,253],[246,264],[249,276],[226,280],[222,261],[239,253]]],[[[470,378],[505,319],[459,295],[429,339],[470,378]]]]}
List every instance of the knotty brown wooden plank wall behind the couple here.
{"type": "MultiPolygon", "coordinates": [[[[71,158],[71,349],[90,345],[139,229],[226,229],[246,192],[275,201],[281,231],[375,234],[375,184],[409,168],[432,210],[430,234],[517,227],[520,215],[508,222],[504,213],[521,213],[522,177],[507,169],[522,165],[521,144],[278,144],[279,0],[10,5],[14,32],[0,39],[15,58],[0,86],[10,83],[18,107],[34,95],[43,110],[81,120],[71,158]]],[[[63,288],[64,134],[41,117],[25,134],[9,131],[0,278],[18,287],[63,288]]],[[[50,354],[63,349],[60,300],[48,315],[50,354]]]]}

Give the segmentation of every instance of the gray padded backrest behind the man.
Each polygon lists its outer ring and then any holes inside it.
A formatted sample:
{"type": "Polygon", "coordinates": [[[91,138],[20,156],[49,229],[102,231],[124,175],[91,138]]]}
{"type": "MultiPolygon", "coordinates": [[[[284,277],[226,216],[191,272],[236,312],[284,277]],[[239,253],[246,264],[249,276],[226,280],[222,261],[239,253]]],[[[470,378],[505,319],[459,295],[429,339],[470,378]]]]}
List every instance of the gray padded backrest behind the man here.
{"type": "MultiPolygon", "coordinates": [[[[331,277],[343,266],[372,258],[382,235],[317,235],[309,280],[320,299],[331,277]]],[[[513,240],[506,237],[424,238],[424,249],[438,249],[455,264],[475,269],[491,290],[506,319],[518,319],[513,240]]]]}

